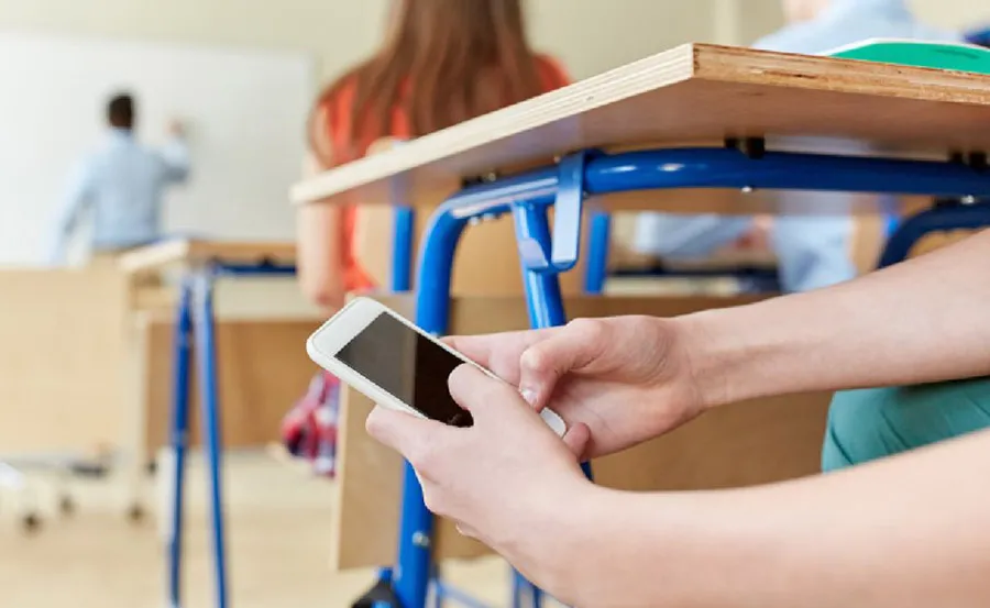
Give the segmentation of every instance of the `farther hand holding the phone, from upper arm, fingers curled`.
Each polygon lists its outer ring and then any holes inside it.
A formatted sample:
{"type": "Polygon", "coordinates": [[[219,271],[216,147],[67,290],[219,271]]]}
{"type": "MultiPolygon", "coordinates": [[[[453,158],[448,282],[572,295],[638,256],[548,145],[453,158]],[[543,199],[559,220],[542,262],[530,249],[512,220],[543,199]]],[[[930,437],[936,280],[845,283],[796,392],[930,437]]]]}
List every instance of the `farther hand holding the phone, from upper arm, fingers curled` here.
{"type": "Polygon", "coordinates": [[[550,407],[579,456],[623,451],[704,410],[683,330],[652,317],[579,319],[563,328],[448,338],[448,344],[550,407]],[[586,427],[586,429],[585,429],[586,427]],[[591,431],[583,450],[581,434],[591,431]]]}

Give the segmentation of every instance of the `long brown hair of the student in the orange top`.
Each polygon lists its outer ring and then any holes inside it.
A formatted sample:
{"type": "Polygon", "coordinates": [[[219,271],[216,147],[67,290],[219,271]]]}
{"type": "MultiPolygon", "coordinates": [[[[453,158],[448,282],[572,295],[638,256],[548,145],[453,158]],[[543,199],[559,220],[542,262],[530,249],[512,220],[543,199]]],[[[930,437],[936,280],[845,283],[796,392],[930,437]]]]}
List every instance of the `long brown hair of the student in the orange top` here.
{"type": "MultiPolygon", "coordinates": [[[[372,142],[392,135],[396,109],[416,137],[542,92],[521,0],[400,0],[395,8],[385,46],[317,101],[319,111],[345,86],[355,87],[350,124],[340,125],[349,129],[352,150],[334,151],[338,159],[363,156],[372,142]]],[[[317,139],[329,133],[310,126],[319,151],[317,139]]]]}

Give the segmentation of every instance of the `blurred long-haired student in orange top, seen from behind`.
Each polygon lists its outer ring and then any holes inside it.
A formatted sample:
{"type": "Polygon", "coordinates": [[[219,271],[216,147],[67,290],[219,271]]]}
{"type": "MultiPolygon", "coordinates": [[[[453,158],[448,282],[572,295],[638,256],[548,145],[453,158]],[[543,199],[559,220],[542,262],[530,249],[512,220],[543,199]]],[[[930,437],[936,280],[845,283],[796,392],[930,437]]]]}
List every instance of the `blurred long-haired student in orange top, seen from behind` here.
{"type": "MultiPolygon", "coordinates": [[[[307,172],[369,154],[512,106],[568,84],[526,35],[520,0],[396,0],[385,44],[319,97],[307,172]]],[[[309,206],[298,217],[304,294],[328,313],[375,287],[354,251],[355,206],[309,206]]],[[[383,237],[383,247],[391,247],[383,237]]],[[[332,474],[338,383],[320,374],[285,421],[287,447],[332,474]]]]}

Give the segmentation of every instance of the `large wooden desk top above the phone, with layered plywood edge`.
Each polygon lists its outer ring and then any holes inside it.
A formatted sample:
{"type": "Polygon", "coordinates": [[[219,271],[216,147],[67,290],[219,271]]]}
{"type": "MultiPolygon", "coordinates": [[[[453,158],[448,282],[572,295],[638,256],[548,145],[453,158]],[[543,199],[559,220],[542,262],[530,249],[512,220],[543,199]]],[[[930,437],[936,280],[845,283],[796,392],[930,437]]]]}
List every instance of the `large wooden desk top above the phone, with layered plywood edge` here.
{"type": "Polygon", "coordinates": [[[327,172],[292,196],[408,202],[587,147],[759,135],[850,137],[943,157],[990,148],[990,77],[684,45],[327,172]]]}

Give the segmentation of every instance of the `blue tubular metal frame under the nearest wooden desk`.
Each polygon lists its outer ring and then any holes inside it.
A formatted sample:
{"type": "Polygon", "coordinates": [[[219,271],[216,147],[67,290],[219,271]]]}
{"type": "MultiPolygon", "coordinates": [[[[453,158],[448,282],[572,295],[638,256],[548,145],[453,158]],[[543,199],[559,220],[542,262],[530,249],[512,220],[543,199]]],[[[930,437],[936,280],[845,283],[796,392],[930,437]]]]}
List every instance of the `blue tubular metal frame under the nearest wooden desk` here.
{"type": "MultiPolygon", "coordinates": [[[[952,162],[924,162],[873,157],[774,153],[747,155],[732,148],[679,148],[607,155],[596,151],[564,157],[557,166],[521,175],[496,178],[470,186],[449,198],[433,213],[425,236],[418,269],[416,322],[442,334],[447,330],[451,272],[458,242],[472,222],[512,213],[525,278],[526,298],[534,328],[566,322],[558,275],[572,268],[580,255],[582,202],[586,196],[630,190],[674,188],[732,188],[768,190],[826,190],[871,194],[916,195],[944,198],[990,195],[990,173],[952,162]],[[556,207],[553,234],[547,217],[556,207]]],[[[411,229],[411,211],[405,209],[411,229]]],[[[610,223],[606,213],[590,213],[588,265],[585,288],[601,294],[607,268],[610,223]]],[[[397,222],[397,225],[399,222],[397,222]]],[[[883,264],[903,259],[921,235],[946,228],[990,225],[990,207],[985,204],[933,209],[922,213],[893,234],[883,264]]],[[[403,230],[403,229],[398,229],[403,230]]],[[[408,268],[410,236],[397,232],[394,262],[396,275],[408,268]]],[[[395,281],[397,290],[408,283],[395,281]]],[[[376,608],[426,608],[431,597],[442,597],[465,606],[474,600],[447,589],[436,578],[430,552],[433,518],[424,506],[422,491],[407,464],[403,482],[398,561],[383,571],[395,604],[380,601],[376,608]]],[[[514,606],[541,606],[541,594],[516,577],[514,606]]],[[[435,604],[439,605],[439,604],[435,604]]]]}

